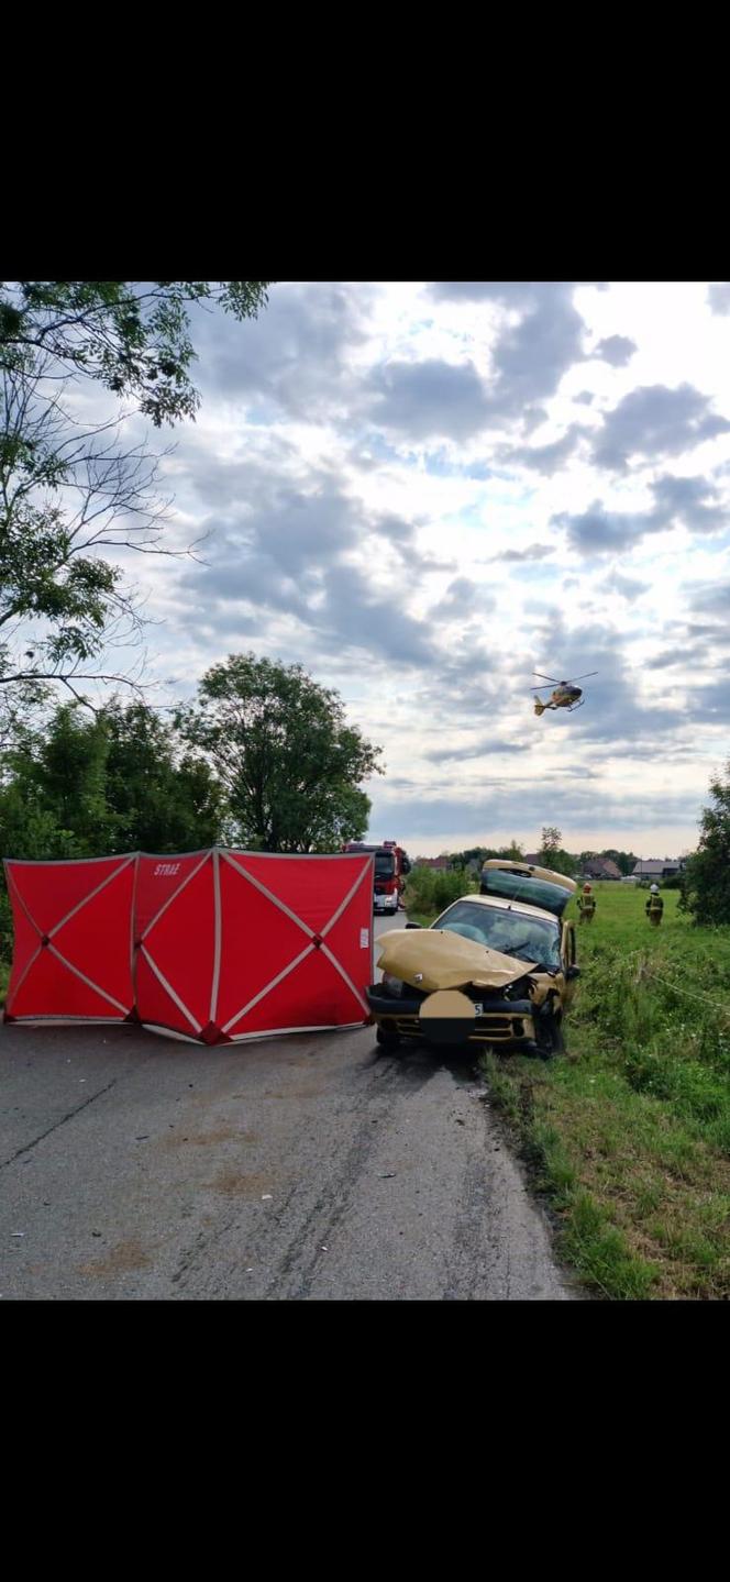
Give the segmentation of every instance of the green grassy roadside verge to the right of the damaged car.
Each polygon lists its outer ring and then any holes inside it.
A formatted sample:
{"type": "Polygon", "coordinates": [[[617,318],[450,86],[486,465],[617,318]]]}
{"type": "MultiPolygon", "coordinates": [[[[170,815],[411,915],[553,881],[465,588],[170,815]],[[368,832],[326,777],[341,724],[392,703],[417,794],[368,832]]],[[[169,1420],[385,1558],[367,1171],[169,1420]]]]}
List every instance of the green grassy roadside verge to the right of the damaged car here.
{"type": "Polygon", "coordinates": [[[654,930],[644,891],[595,889],[568,1052],[486,1055],[492,1103],[589,1288],[728,1300],[730,929],[692,927],[665,891],[654,930]]]}

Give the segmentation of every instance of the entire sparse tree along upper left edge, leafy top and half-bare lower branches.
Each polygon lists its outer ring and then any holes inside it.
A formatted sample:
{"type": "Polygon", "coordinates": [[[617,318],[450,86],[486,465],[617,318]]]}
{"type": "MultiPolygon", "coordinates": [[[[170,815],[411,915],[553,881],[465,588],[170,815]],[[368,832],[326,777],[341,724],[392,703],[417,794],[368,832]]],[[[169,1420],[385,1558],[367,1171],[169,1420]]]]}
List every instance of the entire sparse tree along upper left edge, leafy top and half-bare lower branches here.
{"type": "MultiPolygon", "coordinates": [[[[195,416],[188,308],[257,316],[268,282],[0,282],[0,732],[48,683],[138,685],[143,615],[116,554],[171,554],[158,457],[120,445],[130,413],[92,426],[78,394],[98,381],[160,427],[195,416]]],[[[184,551],[185,552],[185,551],[184,551]]]]}

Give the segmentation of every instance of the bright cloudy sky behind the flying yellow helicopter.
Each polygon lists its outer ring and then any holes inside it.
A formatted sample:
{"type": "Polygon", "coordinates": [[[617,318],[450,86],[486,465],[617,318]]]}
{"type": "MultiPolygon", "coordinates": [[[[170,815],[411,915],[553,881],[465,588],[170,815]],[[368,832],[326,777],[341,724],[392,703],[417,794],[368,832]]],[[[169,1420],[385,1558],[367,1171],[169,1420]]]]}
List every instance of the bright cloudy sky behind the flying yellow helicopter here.
{"type": "Polygon", "coordinates": [[[301,661],[412,854],[692,848],[730,755],[730,285],[282,283],[193,340],[165,470],[204,563],[143,566],[174,696],[301,661]],[[534,669],[599,676],[538,720],[534,669]]]}

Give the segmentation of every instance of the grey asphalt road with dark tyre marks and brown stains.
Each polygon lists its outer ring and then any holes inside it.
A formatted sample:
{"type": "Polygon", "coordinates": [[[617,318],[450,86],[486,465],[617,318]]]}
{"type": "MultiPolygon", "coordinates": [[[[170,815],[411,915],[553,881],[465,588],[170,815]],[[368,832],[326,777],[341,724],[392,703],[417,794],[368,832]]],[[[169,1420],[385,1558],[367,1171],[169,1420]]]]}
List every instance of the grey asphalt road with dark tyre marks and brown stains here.
{"type": "Polygon", "coordinates": [[[573,1296],[469,1060],[0,1027],[5,1300],[573,1296]]]}

